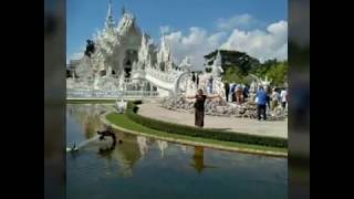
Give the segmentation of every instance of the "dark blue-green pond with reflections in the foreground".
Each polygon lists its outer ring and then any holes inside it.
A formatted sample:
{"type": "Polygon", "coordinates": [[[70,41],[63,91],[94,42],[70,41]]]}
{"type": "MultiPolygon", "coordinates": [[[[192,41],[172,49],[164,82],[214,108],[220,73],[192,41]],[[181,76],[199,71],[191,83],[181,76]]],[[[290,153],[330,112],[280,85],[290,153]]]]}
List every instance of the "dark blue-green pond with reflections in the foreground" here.
{"type": "MultiPolygon", "coordinates": [[[[67,104],[66,145],[104,129],[105,105],[67,104]]],[[[67,199],[284,199],[288,159],[173,144],[115,132],[122,144],[66,155],[67,199]]]]}

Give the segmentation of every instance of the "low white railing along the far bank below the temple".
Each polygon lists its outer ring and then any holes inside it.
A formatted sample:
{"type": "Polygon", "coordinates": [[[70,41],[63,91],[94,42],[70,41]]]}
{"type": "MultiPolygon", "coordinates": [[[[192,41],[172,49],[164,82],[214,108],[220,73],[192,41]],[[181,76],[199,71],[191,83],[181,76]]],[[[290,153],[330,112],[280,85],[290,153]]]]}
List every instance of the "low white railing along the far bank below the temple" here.
{"type": "Polygon", "coordinates": [[[66,90],[67,98],[127,98],[158,97],[156,91],[101,91],[101,90],[66,90]]]}

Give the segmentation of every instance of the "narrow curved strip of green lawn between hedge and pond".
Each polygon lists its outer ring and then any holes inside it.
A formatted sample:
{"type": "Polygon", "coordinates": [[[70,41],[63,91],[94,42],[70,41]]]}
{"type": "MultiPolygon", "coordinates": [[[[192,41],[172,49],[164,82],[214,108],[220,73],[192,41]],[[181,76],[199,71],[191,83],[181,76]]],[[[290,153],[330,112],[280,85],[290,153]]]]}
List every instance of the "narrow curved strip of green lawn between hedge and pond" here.
{"type": "Polygon", "coordinates": [[[267,147],[267,146],[259,146],[259,145],[249,145],[249,144],[241,144],[241,143],[232,143],[232,142],[222,142],[216,139],[207,139],[200,137],[191,137],[186,135],[177,135],[177,134],[169,134],[160,130],[155,130],[152,128],[147,128],[140,124],[137,124],[131,121],[125,114],[115,114],[111,113],[106,116],[107,121],[112,124],[134,130],[134,132],[142,132],[145,134],[150,134],[159,137],[170,137],[170,138],[178,138],[189,142],[196,143],[205,143],[205,144],[214,144],[227,147],[236,147],[236,148],[247,148],[247,149],[256,149],[256,150],[263,150],[263,151],[277,151],[277,153],[288,153],[288,148],[277,148],[277,147],[267,147]]]}

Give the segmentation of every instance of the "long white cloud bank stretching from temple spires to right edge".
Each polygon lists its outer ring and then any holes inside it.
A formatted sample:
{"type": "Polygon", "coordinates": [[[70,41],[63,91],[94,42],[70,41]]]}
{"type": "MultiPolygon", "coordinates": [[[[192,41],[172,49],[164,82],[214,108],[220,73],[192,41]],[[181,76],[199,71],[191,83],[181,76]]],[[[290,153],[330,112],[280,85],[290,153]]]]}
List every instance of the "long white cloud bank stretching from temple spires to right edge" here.
{"type": "Polygon", "coordinates": [[[166,34],[173,56],[178,64],[185,56],[191,57],[194,69],[201,70],[204,55],[216,49],[243,51],[261,62],[268,59],[288,59],[288,22],[279,21],[269,24],[266,30],[219,31],[192,27],[187,33],[175,31],[166,34]]]}

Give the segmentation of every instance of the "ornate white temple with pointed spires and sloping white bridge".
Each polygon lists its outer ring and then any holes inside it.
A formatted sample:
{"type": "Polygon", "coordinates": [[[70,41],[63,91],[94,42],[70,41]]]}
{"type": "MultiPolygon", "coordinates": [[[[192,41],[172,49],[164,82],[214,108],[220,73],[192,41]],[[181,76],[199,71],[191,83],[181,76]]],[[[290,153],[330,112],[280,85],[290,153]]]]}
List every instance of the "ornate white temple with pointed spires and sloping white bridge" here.
{"type": "Polygon", "coordinates": [[[76,61],[74,75],[66,80],[69,97],[170,96],[184,87],[180,82],[190,74],[189,59],[174,63],[165,36],[155,45],[132,12],[124,10],[116,23],[112,1],[104,29],[93,42],[91,57],[76,61]]]}

